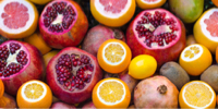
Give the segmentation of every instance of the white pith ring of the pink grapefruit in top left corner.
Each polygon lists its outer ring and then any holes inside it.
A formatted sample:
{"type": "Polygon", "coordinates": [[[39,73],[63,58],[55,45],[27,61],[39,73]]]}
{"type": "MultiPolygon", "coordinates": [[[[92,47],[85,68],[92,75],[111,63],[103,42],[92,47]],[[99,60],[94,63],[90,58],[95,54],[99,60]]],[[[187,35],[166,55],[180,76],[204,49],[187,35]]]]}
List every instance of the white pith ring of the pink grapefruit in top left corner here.
{"type": "Polygon", "coordinates": [[[4,7],[10,2],[23,3],[28,9],[27,13],[29,15],[29,19],[26,22],[26,25],[24,27],[22,27],[22,28],[19,27],[17,29],[14,29],[14,28],[9,28],[8,26],[5,26],[3,24],[3,20],[4,19],[0,17],[0,27],[1,27],[1,29],[3,32],[11,33],[11,34],[20,34],[20,33],[23,33],[23,32],[27,31],[33,25],[33,23],[35,21],[35,12],[34,12],[33,5],[31,3],[28,3],[26,0],[3,0],[0,3],[0,15],[2,13],[4,13],[4,7]]]}

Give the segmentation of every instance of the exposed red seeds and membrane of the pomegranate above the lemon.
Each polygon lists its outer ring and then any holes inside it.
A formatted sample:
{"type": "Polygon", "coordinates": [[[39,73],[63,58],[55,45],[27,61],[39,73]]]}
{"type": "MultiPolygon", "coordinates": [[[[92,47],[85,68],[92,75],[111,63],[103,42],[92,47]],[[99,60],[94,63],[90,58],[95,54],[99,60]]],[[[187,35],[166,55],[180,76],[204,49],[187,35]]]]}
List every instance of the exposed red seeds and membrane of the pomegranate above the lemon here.
{"type": "Polygon", "coordinates": [[[166,12],[155,11],[154,14],[145,12],[135,26],[138,38],[147,47],[165,47],[177,38],[179,28],[172,17],[167,17],[166,12]]]}

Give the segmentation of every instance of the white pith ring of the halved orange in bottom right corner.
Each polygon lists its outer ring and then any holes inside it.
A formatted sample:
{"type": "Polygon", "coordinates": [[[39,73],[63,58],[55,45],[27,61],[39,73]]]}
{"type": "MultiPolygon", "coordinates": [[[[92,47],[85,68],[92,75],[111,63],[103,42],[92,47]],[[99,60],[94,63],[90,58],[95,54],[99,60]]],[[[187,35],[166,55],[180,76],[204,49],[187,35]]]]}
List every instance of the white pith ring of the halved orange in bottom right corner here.
{"type": "Polygon", "coordinates": [[[211,92],[211,94],[213,94],[213,98],[210,99],[210,102],[209,102],[208,105],[206,105],[205,107],[196,107],[196,106],[190,105],[190,104],[186,101],[186,98],[184,97],[184,93],[185,93],[185,92],[183,92],[183,93],[182,93],[182,98],[184,99],[184,102],[185,102],[186,105],[189,105],[190,107],[194,108],[194,109],[206,109],[209,105],[211,105],[213,99],[214,99],[214,97],[216,96],[216,95],[214,94],[214,90],[213,90],[207,84],[201,83],[201,82],[192,82],[192,83],[187,84],[187,85],[184,87],[184,90],[186,90],[186,87],[190,86],[190,85],[192,85],[192,84],[204,84],[205,86],[207,86],[207,87],[209,88],[209,90],[211,92]]]}

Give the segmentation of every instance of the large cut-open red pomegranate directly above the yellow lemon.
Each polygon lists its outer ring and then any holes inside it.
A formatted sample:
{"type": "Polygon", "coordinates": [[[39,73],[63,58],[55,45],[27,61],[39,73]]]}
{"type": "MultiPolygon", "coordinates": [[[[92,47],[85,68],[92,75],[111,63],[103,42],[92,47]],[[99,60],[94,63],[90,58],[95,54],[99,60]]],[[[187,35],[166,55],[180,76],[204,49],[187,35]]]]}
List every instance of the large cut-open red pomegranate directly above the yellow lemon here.
{"type": "Polygon", "coordinates": [[[165,62],[178,60],[185,47],[185,27],[165,9],[145,10],[130,24],[126,44],[133,57],[150,55],[160,66],[165,62]]]}

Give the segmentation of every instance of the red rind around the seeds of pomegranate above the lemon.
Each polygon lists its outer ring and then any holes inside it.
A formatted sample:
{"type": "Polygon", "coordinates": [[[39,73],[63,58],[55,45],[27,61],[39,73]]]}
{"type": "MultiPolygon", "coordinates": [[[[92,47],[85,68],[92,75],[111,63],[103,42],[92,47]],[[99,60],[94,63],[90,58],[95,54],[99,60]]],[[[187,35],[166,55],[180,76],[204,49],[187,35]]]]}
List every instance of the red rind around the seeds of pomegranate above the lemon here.
{"type": "Polygon", "coordinates": [[[171,14],[169,11],[165,9],[154,9],[154,10],[146,10],[141,12],[134,21],[130,24],[128,31],[126,31],[126,44],[131,48],[133,58],[138,55],[150,55],[157,60],[158,66],[161,66],[165,62],[169,61],[177,61],[179,59],[180,53],[185,48],[185,27],[184,24],[175,17],[173,14],[171,14]],[[161,48],[146,48],[146,44],[143,44],[138,40],[138,36],[135,32],[135,24],[137,23],[137,19],[140,19],[145,12],[152,12],[152,11],[160,11],[166,12],[167,15],[170,15],[174,21],[178,22],[178,26],[180,27],[181,32],[179,38],[177,38],[177,41],[170,44],[171,46],[161,47],[161,48]]]}

